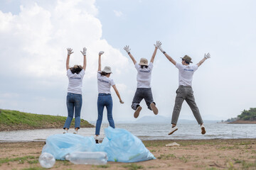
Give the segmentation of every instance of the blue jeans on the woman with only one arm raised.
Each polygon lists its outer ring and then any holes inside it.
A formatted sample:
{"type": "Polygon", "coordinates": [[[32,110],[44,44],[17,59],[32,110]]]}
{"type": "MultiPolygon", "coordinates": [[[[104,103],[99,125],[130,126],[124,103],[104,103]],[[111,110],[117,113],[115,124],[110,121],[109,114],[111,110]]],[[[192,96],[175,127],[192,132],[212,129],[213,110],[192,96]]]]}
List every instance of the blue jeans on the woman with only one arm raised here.
{"type": "Polygon", "coordinates": [[[112,117],[113,102],[111,94],[99,94],[97,100],[98,118],[96,123],[95,135],[100,135],[100,126],[102,123],[103,110],[105,106],[107,108],[107,120],[109,121],[110,126],[114,128],[114,120],[112,117]]]}

